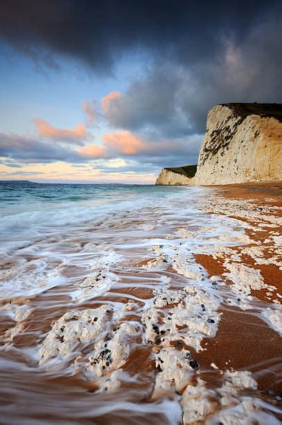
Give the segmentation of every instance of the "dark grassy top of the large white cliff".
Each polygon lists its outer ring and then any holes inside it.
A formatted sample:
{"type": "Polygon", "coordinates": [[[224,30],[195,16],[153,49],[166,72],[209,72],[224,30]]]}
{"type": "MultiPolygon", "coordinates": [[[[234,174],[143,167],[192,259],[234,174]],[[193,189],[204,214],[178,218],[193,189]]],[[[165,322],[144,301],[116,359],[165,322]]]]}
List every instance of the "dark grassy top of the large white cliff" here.
{"type": "Polygon", "coordinates": [[[248,115],[260,117],[274,117],[282,122],[282,103],[221,103],[228,106],[235,115],[247,118],[248,115]]]}

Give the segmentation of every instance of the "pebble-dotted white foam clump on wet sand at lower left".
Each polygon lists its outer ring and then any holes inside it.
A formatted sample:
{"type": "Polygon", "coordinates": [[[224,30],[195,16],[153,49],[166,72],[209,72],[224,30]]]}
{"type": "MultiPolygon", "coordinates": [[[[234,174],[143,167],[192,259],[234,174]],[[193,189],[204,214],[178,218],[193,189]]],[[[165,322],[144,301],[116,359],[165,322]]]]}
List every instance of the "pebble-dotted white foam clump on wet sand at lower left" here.
{"type": "Polygon", "coordinates": [[[116,313],[107,305],[65,313],[39,347],[39,365],[50,368],[59,366],[62,360],[71,360],[72,374],[81,371],[96,383],[99,392],[116,390],[123,376],[121,368],[140,334],[140,326],[120,324],[114,317],[116,313]],[[94,349],[84,355],[85,347],[94,349]]]}

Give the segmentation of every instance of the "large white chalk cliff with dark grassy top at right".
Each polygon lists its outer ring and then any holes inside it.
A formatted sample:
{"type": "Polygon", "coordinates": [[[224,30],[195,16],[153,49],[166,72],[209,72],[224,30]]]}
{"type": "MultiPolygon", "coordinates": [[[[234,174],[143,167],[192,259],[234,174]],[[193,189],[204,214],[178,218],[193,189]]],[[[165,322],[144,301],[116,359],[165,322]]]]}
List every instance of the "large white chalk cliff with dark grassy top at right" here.
{"type": "Polygon", "coordinates": [[[193,184],[281,178],[281,104],[227,103],[210,110],[193,184]]]}

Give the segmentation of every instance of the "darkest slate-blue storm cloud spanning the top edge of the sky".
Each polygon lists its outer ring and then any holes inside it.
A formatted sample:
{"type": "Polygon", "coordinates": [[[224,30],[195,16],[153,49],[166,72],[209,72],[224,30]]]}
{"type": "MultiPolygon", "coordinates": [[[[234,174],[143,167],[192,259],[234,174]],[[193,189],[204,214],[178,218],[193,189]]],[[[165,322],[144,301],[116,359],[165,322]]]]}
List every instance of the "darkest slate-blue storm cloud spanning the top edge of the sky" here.
{"type": "Polygon", "coordinates": [[[42,52],[50,66],[55,53],[105,71],[130,49],[191,63],[214,56],[226,37],[244,40],[278,7],[275,0],[2,0],[0,35],[21,53],[42,52]]]}

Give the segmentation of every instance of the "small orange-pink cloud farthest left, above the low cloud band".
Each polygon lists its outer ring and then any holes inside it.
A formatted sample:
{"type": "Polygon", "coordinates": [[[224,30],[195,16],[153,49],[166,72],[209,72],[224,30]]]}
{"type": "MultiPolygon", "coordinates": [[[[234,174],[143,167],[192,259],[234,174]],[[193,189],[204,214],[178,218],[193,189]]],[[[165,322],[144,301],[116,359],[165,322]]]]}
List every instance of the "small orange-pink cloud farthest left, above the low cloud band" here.
{"type": "Polygon", "coordinates": [[[84,124],[78,124],[75,128],[55,128],[45,119],[33,119],[37,133],[40,137],[58,140],[60,142],[69,142],[82,145],[82,140],[87,138],[87,129],[84,124]]]}

